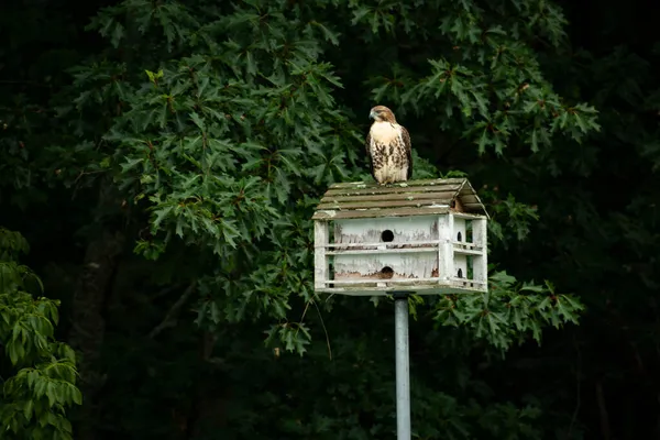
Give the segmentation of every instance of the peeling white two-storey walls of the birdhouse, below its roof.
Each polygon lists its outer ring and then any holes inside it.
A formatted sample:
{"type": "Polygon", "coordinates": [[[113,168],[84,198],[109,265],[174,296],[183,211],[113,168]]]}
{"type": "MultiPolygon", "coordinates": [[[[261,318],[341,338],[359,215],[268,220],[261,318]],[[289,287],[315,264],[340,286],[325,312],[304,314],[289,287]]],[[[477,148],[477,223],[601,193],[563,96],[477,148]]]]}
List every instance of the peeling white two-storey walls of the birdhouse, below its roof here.
{"type": "Polygon", "coordinates": [[[486,219],[431,216],[315,221],[315,288],[346,295],[485,292],[486,219]]]}

